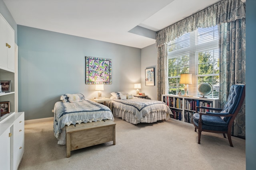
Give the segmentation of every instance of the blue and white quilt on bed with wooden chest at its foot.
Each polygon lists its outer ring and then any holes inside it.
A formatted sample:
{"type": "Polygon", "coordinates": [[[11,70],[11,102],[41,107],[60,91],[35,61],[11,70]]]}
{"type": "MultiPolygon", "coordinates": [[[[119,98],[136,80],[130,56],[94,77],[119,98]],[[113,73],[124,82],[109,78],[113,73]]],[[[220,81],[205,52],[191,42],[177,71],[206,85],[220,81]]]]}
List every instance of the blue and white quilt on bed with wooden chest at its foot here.
{"type": "Polygon", "coordinates": [[[92,121],[113,120],[113,114],[107,106],[85,99],[82,102],[66,103],[56,102],[54,105],[54,136],[58,144],[66,144],[66,128],[76,123],[87,123],[92,121]],[[60,133],[63,136],[60,138],[60,133]]]}

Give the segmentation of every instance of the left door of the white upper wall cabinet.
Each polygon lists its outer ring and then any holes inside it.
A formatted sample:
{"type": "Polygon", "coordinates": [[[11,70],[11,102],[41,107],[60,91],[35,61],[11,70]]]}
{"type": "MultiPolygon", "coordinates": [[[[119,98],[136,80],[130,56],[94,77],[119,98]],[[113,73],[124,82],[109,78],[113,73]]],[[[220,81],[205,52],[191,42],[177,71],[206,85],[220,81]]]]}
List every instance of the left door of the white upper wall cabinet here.
{"type": "Polygon", "coordinates": [[[7,41],[7,23],[0,15],[0,66],[7,68],[8,67],[8,57],[6,41],[7,41]]]}

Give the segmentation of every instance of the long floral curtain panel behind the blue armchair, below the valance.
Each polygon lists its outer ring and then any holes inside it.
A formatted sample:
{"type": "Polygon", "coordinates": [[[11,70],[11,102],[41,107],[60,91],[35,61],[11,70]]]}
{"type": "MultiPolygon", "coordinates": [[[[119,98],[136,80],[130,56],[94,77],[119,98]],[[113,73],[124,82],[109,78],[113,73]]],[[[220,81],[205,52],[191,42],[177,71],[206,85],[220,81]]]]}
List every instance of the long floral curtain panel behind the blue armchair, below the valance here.
{"type": "MultiPolygon", "coordinates": [[[[223,107],[230,86],[245,84],[245,18],[219,25],[220,91],[219,102],[223,107]]],[[[245,137],[245,102],[233,124],[232,135],[245,137]]]]}

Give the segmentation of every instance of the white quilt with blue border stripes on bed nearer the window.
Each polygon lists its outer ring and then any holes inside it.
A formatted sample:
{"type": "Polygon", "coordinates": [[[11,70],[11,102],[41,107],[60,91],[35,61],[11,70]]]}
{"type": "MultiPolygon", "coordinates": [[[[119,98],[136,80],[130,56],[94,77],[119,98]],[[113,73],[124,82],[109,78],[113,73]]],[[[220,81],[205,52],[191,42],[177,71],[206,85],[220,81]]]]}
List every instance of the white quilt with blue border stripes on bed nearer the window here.
{"type": "MultiPolygon", "coordinates": [[[[138,123],[142,122],[144,117],[149,115],[150,113],[160,112],[162,114],[165,114],[164,119],[166,118],[166,115],[172,114],[172,111],[164,102],[142,98],[132,98],[124,100],[112,98],[112,107],[123,110],[126,113],[133,114],[136,122],[138,123]]],[[[113,114],[118,116],[118,113],[113,112],[113,114]]],[[[132,121],[128,122],[131,123],[132,121]]]]}

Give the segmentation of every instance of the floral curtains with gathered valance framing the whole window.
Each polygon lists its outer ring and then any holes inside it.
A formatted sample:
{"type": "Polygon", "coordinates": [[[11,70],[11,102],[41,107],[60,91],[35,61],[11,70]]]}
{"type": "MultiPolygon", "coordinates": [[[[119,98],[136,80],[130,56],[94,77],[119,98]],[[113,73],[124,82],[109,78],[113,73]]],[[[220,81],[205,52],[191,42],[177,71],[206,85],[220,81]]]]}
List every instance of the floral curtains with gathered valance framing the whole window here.
{"type": "MultiPolygon", "coordinates": [[[[158,47],[157,81],[158,88],[160,88],[157,94],[158,99],[161,99],[162,94],[167,93],[165,81],[162,82],[162,77],[167,77],[167,72],[165,70],[167,64],[161,63],[161,61],[164,60],[163,58],[167,58],[167,45],[165,44],[180,37],[184,33],[196,30],[198,27],[204,28],[219,25],[219,30],[221,30],[221,33],[219,33],[219,36],[221,36],[219,37],[219,39],[221,39],[221,52],[219,53],[220,70],[223,73],[220,73],[220,104],[224,103],[228,96],[229,87],[233,83],[245,82],[245,16],[245,5],[241,0],[222,0],[184,20],[158,31],[156,34],[156,47],[158,47]],[[223,24],[226,24],[226,28],[223,24]],[[226,43],[228,43],[228,45],[225,47],[224,45],[226,45],[226,43]],[[165,52],[163,52],[163,50],[165,50],[165,52]],[[236,56],[228,59],[231,65],[233,65],[232,67],[229,66],[229,63],[223,62],[226,61],[225,59],[230,57],[230,55],[236,56]],[[228,68],[222,68],[225,64],[228,64],[228,68]],[[229,72],[230,70],[232,70],[232,73],[226,74],[226,72],[229,72]],[[230,74],[233,78],[230,78],[230,74]]],[[[237,116],[237,119],[235,126],[236,124],[240,124],[240,116],[237,116]]],[[[242,122],[242,125],[239,125],[239,127],[244,127],[244,119],[242,122]]],[[[234,127],[234,130],[235,129],[237,128],[234,127]]],[[[238,131],[240,131],[240,135],[243,135],[244,128],[238,131]]]]}

